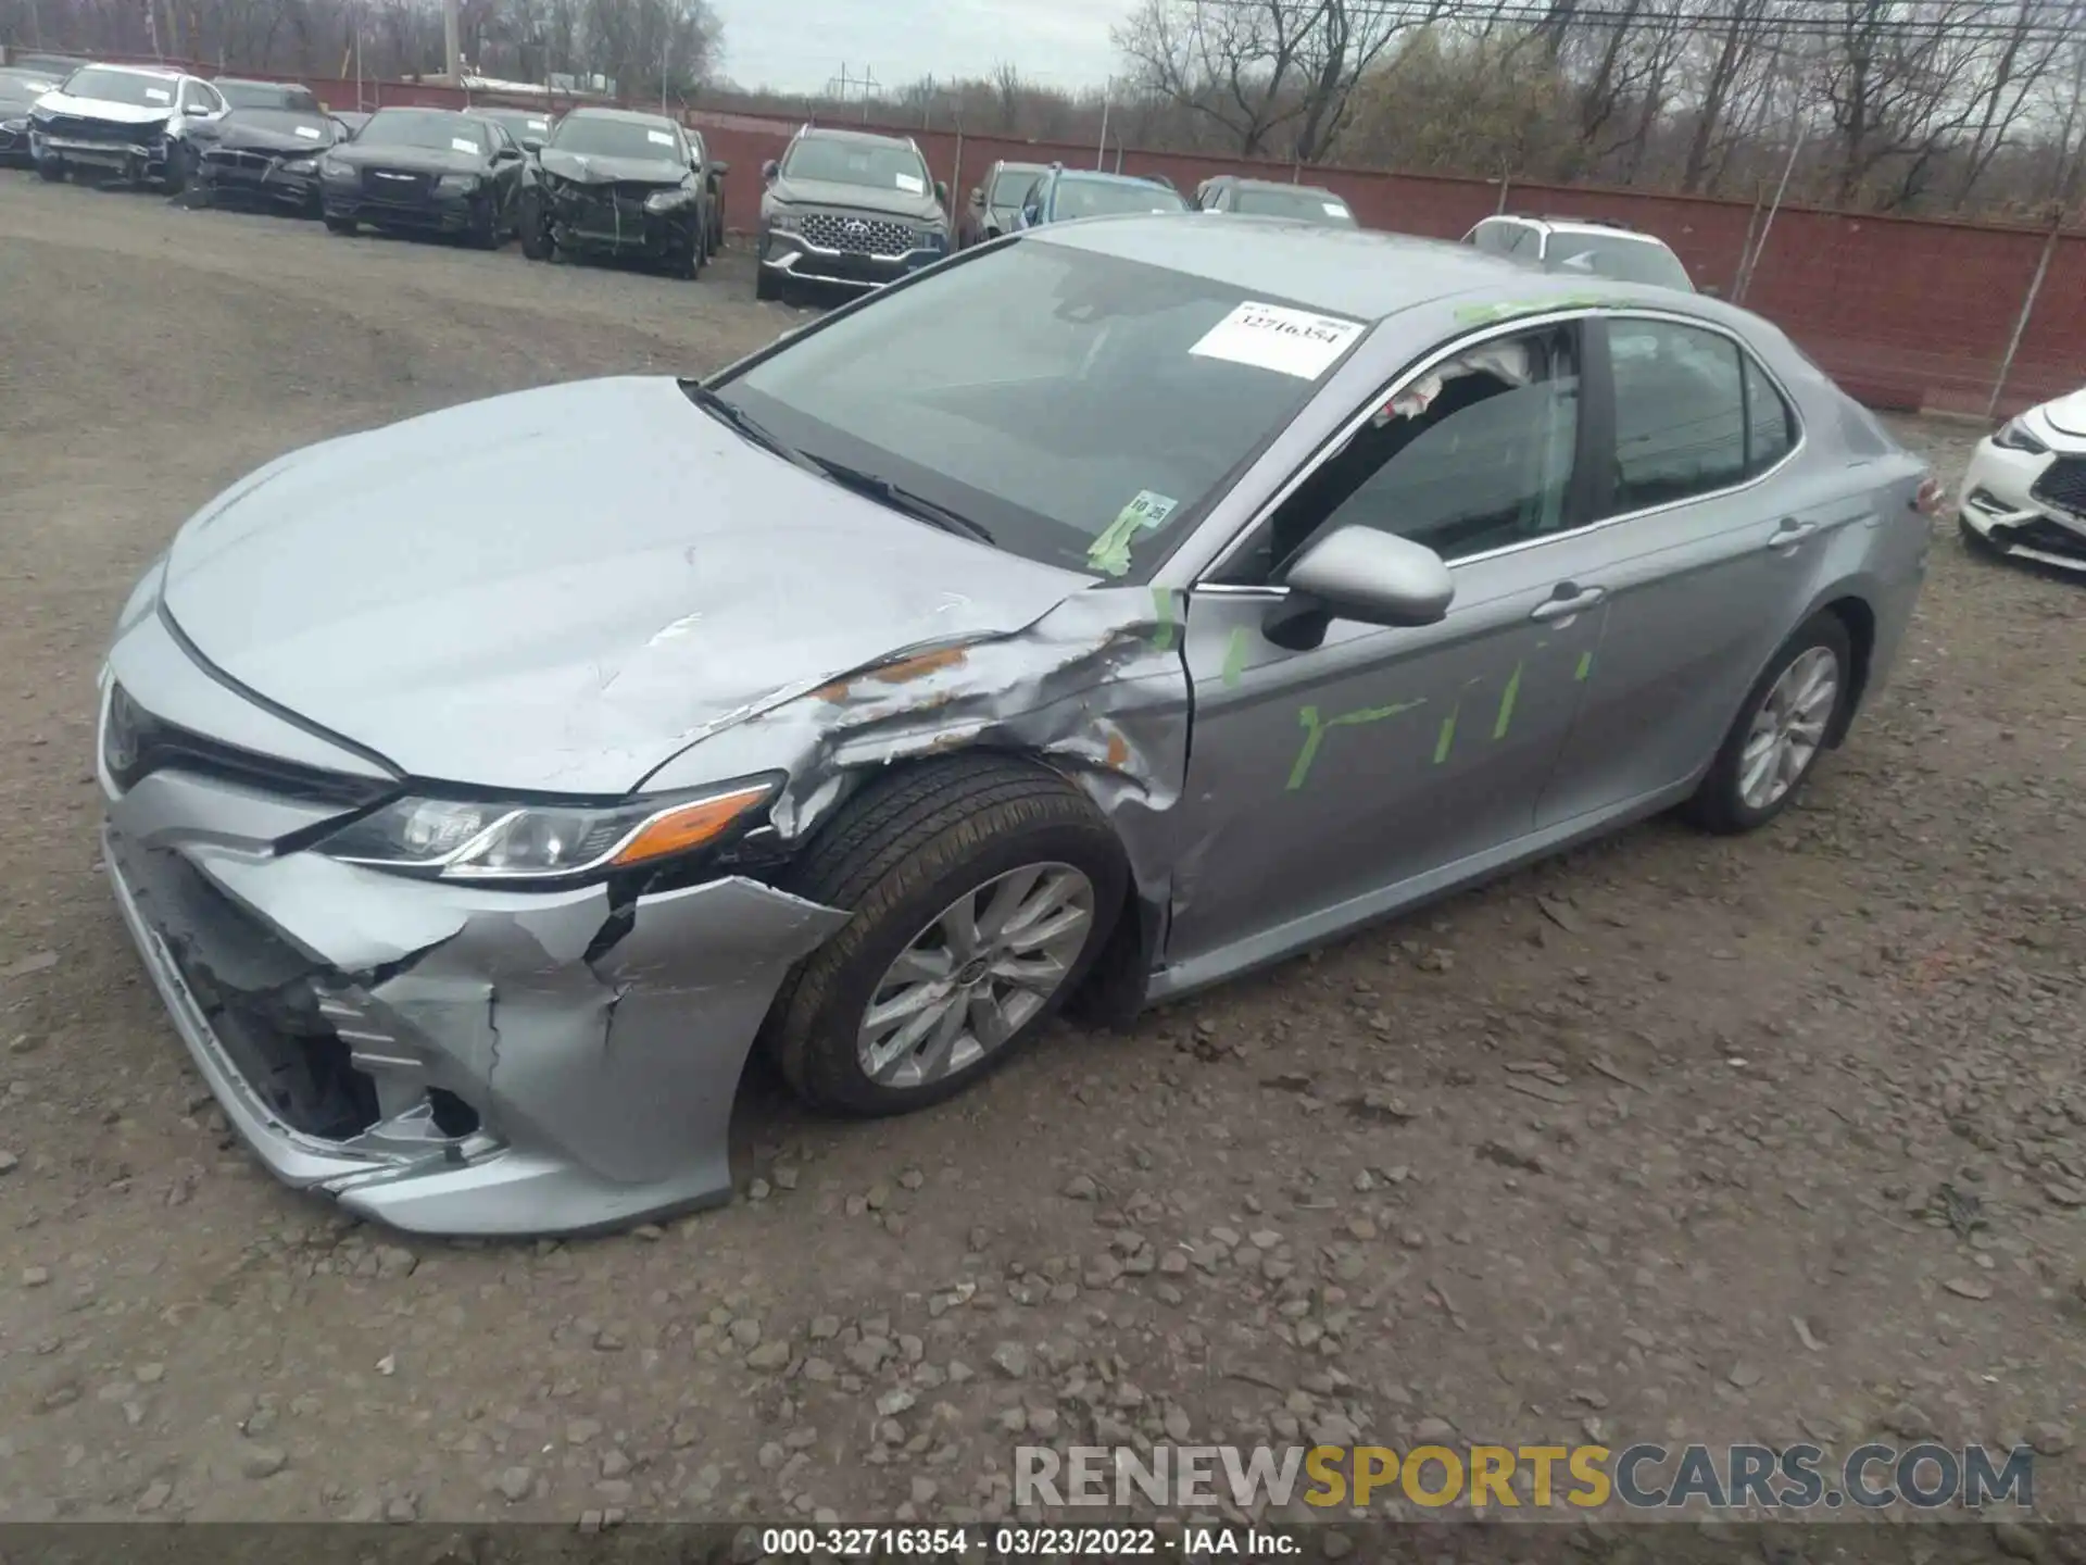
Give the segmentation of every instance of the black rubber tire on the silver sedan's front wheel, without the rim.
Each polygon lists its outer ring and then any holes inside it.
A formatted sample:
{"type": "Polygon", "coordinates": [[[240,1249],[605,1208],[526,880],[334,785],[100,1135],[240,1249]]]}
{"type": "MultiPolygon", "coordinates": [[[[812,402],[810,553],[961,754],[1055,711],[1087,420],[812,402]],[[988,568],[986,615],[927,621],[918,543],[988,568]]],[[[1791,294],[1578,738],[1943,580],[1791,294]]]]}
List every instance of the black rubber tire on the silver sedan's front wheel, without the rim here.
{"type": "MultiPolygon", "coordinates": [[[[784,981],[763,1029],[768,1052],[791,1089],[814,1108],[878,1116],[939,1104],[1010,1060],[1078,989],[1108,945],[1126,881],[1114,830],[1085,793],[1041,766],[1014,757],[964,755],[880,780],[820,830],[786,881],[795,895],[847,908],[855,916],[784,981]],[[1033,883],[1026,881],[1030,872],[1037,876],[1033,883]],[[903,1075],[916,1068],[920,1056],[899,1048],[899,1081],[876,1081],[870,1075],[857,1050],[864,1016],[878,995],[891,997],[891,972],[899,956],[943,935],[945,912],[968,899],[980,910],[980,933],[989,933],[993,901],[976,893],[1003,889],[1018,901],[1022,895],[1047,899],[1053,887],[1072,887],[1076,897],[1078,876],[1085,876],[1091,893],[1089,918],[1076,954],[1064,943],[1049,952],[1045,966],[1056,968],[1056,987],[1035,995],[1033,989],[989,974],[970,989],[943,987],[943,993],[955,995],[949,1006],[912,1014],[955,1012],[957,1033],[949,1050],[953,1068],[905,1081],[903,1075]],[[1024,885],[1035,889],[1022,891],[1024,885]],[[997,995],[1001,1008],[995,1020],[1012,1031],[980,1041],[974,1002],[962,995],[983,995],[987,1006],[997,995]]],[[[1020,912],[1026,908],[1022,904],[1020,912]]],[[[1076,908],[1068,899],[1064,916],[1072,912],[1076,908]]],[[[989,954],[962,960],[962,949],[953,943],[926,956],[943,966],[960,962],[951,977],[962,977],[972,962],[991,960],[989,954]],[[949,949],[955,954],[943,956],[949,949]]],[[[937,985],[945,981],[937,977],[926,987],[937,985]]],[[[903,1031],[899,1025],[889,1039],[903,1043],[903,1031]]],[[[928,1027],[922,1039],[935,1033],[928,1027]]]]}

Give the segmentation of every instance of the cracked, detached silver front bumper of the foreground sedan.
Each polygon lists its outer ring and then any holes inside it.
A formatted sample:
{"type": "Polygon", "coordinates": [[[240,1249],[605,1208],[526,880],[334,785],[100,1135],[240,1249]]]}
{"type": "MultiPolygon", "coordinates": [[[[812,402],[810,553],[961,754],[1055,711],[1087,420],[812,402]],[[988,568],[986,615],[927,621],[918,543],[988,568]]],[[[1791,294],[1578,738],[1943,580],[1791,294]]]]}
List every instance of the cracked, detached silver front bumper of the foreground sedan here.
{"type": "Polygon", "coordinates": [[[98,770],[117,906],[225,1118],[284,1183],[409,1231],[726,1200],[753,1037],[847,922],[741,876],[624,908],[413,881],[277,851],[340,805],[213,776],[207,747],[127,791],[98,770]]]}

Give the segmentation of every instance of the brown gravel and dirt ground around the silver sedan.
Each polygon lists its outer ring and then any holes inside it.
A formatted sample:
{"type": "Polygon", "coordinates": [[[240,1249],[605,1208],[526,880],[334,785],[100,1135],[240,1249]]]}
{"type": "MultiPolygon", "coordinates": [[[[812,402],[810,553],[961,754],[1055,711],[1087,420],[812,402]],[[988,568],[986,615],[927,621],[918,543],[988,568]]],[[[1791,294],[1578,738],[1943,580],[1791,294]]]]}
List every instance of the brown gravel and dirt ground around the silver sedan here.
{"type": "Polygon", "coordinates": [[[1022,1442],[1300,1429],[2030,1440],[2071,1504],[2086,595],[1952,536],[1761,837],[1631,830],[920,1118],[753,1083],[745,1198],[665,1233],[409,1242],[273,1185],[96,872],[125,588],[280,451],[791,319],[743,257],[0,173],[0,1519],[997,1517],[1022,1442]]]}

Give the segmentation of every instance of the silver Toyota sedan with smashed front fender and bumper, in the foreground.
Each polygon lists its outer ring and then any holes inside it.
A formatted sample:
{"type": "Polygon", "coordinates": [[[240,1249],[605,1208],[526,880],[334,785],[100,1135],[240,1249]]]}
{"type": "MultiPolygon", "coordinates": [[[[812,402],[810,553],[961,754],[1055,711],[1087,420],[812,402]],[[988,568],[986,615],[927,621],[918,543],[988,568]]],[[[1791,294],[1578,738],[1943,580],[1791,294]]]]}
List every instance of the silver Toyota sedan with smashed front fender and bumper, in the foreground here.
{"type": "Polygon", "coordinates": [[[1769,323],[1283,221],[1047,225],[709,382],[290,453],[100,680],[117,904],[232,1125],[407,1229],[730,1194],[1667,808],[1790,805],[1940,492],[1769,323]],[[951,351],[949,344],[962,344],[951,351]]]}

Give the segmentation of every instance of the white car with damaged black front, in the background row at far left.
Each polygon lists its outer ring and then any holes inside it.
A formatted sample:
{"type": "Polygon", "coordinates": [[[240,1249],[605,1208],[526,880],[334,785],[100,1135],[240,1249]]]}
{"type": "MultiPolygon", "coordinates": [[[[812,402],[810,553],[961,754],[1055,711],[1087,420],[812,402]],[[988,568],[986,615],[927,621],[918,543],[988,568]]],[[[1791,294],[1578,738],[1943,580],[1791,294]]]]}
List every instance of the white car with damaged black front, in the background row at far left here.
{"type": "Polygon", "coordinates": [[[29,113],[35,171],[73,171],[177,192],[196,169],[198,131],[223,119],[217,90],[181,71],[148,65],[88,65],[29,113]]]}

